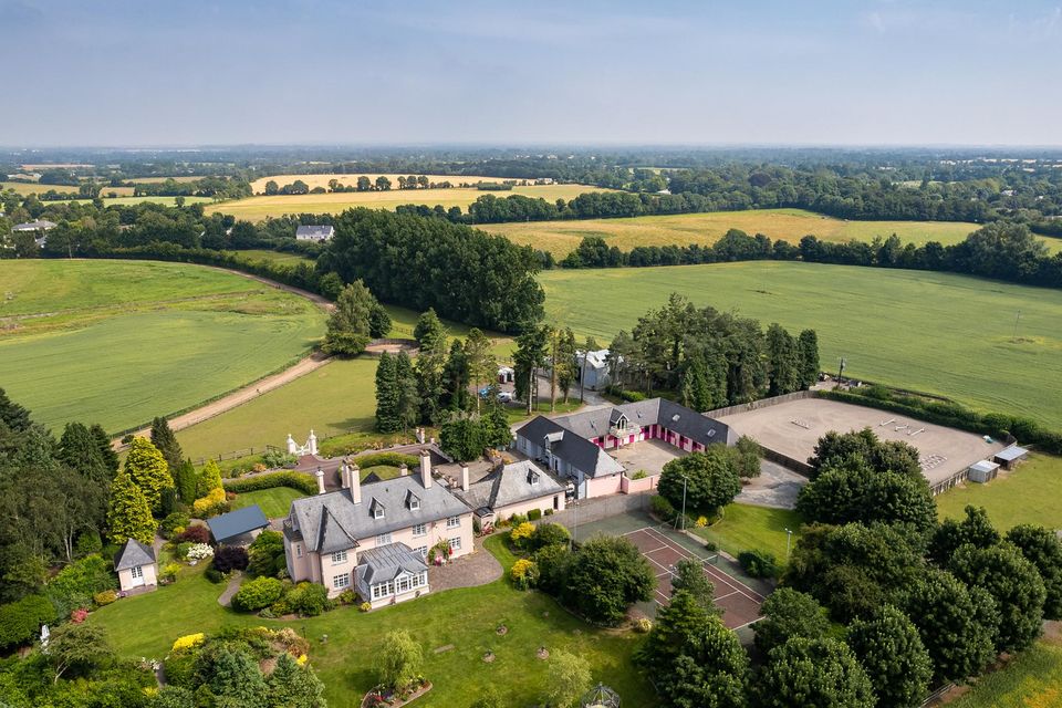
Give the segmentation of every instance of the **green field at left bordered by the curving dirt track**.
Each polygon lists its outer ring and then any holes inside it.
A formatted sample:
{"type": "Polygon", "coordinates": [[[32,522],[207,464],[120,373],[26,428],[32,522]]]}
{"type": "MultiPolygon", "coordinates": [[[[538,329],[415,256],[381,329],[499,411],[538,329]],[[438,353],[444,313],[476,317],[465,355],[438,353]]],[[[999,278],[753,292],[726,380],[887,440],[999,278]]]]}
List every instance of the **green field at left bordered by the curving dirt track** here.
{"type": "Polygon", "coordinates": [[[324,333],[309,301],[150,261],[6,261],[0,387],[53,429],[116,433],[260,378],[324,333]]]}

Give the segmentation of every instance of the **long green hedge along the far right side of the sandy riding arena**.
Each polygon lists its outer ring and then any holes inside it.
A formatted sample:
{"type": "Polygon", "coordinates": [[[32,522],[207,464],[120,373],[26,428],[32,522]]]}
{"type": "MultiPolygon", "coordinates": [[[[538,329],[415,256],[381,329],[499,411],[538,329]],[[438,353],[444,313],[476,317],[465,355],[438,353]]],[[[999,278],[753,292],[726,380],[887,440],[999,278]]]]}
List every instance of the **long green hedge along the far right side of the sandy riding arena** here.
{"type": "Polygon", "coordinates": [[[894,394],[881,386],[871,386],[866,389],[866,393],[827,391],[819,392],[818,396],[897,413],[978,435],[990,435],[997,438],[1006,438],[1008,435],[1012,435],[1022,445],[1035,445],[1044,452],[1062,455],[1062,433],[1048,430],[1029,418],[1003,413],[980,414],[957,403],[894,394]]]}

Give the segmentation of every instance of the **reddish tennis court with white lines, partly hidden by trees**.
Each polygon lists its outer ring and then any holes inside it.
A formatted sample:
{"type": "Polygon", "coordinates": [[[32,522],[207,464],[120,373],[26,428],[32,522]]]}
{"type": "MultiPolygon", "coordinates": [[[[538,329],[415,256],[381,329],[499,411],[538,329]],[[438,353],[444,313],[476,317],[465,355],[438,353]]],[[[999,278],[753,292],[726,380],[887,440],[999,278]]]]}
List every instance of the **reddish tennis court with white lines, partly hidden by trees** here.
{"type": "Polygon", "coordinates": [[[675,564],[684,559],[694,559],[701,563],[705,574],[715,586],[714,597],[716,606],[722,610],[723,624],[731,629],[737,629],[759,618],[763,595],[716,568],[715,556],[700,558],[653,527],[628,531],[623,534],[623,538],[631,541],[656,571],[658,604],[666,605],[671,597],[671,576],[675,573],[675,564]]]}

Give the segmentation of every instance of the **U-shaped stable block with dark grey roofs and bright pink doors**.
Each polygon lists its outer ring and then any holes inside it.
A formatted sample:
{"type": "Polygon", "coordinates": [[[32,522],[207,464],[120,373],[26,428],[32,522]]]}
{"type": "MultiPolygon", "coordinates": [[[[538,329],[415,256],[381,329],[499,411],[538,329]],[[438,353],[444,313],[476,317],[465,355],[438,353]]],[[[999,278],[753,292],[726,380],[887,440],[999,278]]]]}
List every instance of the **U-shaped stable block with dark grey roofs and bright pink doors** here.
{"type": "Polygon", "coordinates": [[[663,440],[687,452],[732,445],[723,423],[664,398],[596,408],[560,418],[539,416],[517,430],[517,449],[540,460],[585,499],[623,490],[624,467],[605,450],[663,440]]]}

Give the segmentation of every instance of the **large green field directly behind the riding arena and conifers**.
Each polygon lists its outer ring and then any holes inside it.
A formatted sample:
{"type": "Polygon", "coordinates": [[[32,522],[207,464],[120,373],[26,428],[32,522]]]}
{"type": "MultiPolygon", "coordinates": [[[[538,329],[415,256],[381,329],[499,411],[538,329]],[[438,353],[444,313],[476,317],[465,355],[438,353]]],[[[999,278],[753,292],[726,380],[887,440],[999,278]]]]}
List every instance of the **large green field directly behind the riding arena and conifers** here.
{"type": "Polygon", "coordinates": [[[848,376],[1062,427],[1062,291],[778,261],[551,270],[540,281],[549,321],[598,341],[629,331],[647,309],[678,292],[764,327],[815,329],[824,369],[836,371],[844,356],[848,376]]]}

